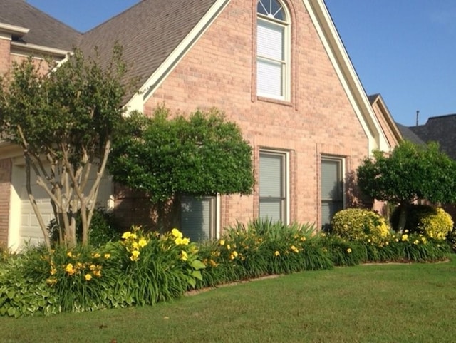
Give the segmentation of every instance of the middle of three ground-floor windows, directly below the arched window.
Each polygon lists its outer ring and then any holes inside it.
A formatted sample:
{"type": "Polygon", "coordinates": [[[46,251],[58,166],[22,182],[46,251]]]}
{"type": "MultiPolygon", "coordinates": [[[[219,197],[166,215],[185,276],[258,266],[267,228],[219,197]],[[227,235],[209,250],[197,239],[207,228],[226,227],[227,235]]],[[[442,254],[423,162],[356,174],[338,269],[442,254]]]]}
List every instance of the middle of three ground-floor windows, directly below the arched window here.
{"type": "Polygon", "coordinates": [[[259,155],[259,217],[286,222],[286,154],[259,155]]]}

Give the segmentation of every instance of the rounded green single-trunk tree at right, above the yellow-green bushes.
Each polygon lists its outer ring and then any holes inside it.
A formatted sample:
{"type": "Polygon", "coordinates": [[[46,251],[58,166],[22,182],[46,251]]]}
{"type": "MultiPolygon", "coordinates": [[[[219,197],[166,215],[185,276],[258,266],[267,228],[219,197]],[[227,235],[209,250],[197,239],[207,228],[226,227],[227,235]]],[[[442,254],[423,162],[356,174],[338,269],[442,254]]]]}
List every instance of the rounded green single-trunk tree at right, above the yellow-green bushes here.
{"type": "Polygon", "coordinates": [[[408,205],[416,200],[456,200],[456,163],[437,143],[403,141],[390,154],[374,151],[358,168],[357,177],[358,187],[366,195],[400,205],[398,230],[405,227],[408,205]]]}

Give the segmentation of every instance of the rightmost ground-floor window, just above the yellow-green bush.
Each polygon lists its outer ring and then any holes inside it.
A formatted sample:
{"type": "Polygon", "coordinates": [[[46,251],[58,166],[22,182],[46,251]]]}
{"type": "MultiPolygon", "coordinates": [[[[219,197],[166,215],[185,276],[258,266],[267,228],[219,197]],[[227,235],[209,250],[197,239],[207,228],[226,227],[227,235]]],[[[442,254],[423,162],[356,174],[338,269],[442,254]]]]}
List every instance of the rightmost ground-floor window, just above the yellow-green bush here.
{"type": "Polygon", "coordinates": [[[342,159],[321,158],[321,225],[328,227],[343,209],[342,159]]]}

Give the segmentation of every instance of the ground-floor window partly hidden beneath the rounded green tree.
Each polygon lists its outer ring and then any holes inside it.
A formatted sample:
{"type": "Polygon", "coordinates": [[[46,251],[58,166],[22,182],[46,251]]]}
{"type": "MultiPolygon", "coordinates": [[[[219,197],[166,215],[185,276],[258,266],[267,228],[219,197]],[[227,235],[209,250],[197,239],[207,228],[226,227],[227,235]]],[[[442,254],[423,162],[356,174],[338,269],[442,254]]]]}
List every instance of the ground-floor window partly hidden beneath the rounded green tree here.
{"type": "Polygon", "coordinates": [[[190,242],[215,238],[217,197],[182,196],[180,230],[190,242]]]}

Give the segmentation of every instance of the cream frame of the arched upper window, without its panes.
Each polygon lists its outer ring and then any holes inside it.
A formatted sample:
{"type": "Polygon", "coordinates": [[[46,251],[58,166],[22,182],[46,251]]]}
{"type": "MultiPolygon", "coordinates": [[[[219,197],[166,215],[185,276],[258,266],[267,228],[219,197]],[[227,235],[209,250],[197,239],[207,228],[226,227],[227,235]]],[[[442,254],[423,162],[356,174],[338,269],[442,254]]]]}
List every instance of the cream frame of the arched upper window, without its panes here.
{"type": "MultiPolygon", "coordinates": [[[[259,0],[257,2],[257,6],[259,2],[269,2],[270,0],[259,0]]],[[[284,20],[274,18],[274,14],[261,14],[257,11],[257,96],[264,97],[264,98],[273,98],[276,100],[281,101],[290,101],[291,100],[291,21],[290,21],[290,14],[285,6],[285,4],[279,0],[276,1],[282,8],[284,13],[284,20]],[[282,36],[282,49],[283,49],[283,57],[282,59],[278,58],[271,58],[269,56],[261,56],[259,54],[258,48],[258,32],[259,32],[259,24],[264,23],[268,24],[269,26],[276,26],[278,28],[283,29],[283,36],[282,36]],[[281,65],[281,95],[276,95],[267,92],[261,92],[259,89],[259,63],[270,63],[274,65],[281,65]]]]}

